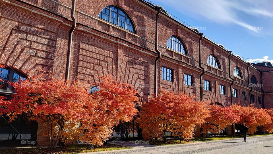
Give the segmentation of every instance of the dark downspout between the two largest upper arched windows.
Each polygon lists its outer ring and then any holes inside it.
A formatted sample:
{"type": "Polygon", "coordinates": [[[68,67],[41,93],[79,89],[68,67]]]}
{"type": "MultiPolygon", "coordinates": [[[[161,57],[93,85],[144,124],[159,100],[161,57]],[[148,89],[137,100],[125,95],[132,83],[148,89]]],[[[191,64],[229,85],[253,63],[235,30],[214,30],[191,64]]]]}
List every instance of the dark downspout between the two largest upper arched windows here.
{"type": "Polygon", "coordinates": [[[158,53],[158,56],[156,60],[154,61],[154,94],[157,96],[157,61],[159,60],[161,53],[158,50],[158,16],[161,12],[162,7],[157,7],[157,13],[156,13],[156,52],[158,53]]]}

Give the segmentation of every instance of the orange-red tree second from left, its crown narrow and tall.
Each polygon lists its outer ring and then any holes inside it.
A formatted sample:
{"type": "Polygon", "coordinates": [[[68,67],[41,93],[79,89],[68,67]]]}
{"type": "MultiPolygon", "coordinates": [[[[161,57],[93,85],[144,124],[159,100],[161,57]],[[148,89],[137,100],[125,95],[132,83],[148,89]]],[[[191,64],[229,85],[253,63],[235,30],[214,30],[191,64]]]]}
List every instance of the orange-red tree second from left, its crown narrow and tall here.
{"type": "Polygon", "coordinates": [[[81,119],[80,140],[88,143],[89,149],[102,145],[111,137],[115,125],[133,120],[138,113],[137,92],[131,85],[116,83],[110,76],[100,79],[99,91],[90,94],[94,102],[85,104],[89,112],[84,112],[81,119]]]}

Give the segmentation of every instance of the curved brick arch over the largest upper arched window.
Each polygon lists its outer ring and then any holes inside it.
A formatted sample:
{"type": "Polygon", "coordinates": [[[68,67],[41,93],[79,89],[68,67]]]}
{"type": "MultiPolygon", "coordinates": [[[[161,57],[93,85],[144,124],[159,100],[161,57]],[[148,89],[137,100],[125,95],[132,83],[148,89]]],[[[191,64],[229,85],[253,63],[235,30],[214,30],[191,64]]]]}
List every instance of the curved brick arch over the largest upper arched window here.
{"type": "Polygon", "coordinates": [[[95,11],[95,15],[98,15],[100,14],[100,11],[102,11],[105,7],[107,6],[116,6],[116,7],[119,7],[121,8],[125,13],[127,13],[127,15],[130,17],[132,23],[133,23],[133,27],[135,29],[135,33],[137,34],[137,25],[136,25],[136,22],[133,20],[133,14],[135,11],[133,11],[130,7],[127,7],[126,5],[124,5],[124,3],[119,3],[118,1],[115,1],[115,0],[107,0],[107,1],[104,1],[103,4],[100,4],[98,5],[96,11],[95,11]]]}

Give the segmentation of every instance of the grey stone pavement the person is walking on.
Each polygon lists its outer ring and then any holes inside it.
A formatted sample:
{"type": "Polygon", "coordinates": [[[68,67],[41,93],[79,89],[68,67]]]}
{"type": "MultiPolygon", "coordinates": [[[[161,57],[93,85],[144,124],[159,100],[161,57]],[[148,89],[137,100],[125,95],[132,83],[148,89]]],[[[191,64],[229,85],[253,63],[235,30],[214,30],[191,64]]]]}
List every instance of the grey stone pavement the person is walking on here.
{"type": "MultiPolygon", "coordinates": [[[[167,154],[167,153],[209,153],[209,154],[225,154],[225,153],[273,153],[273,135],[248,137],[247,142],[243,138],[226,139],[218,141],[208,141],[199,143],[189,143],[180,145],[165,145],[155,147],[141,147],[133,149],[113,150],[104,152],[95,152],[104,154],[167,154]]],[[[94,153],[92,153],[94,154],[94,153]]]]}

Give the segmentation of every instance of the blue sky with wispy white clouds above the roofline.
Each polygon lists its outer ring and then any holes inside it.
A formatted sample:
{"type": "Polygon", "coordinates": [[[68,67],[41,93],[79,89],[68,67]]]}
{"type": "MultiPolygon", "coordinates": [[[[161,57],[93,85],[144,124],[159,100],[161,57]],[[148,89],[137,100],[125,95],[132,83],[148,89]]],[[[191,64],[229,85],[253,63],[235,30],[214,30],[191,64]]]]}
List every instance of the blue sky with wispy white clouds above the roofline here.
{"type": "Polygon", "coordinates": [[[272,0],[150,0],[244,58],[273,63],[272,0]]]}

